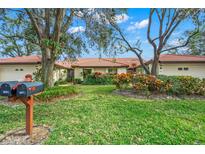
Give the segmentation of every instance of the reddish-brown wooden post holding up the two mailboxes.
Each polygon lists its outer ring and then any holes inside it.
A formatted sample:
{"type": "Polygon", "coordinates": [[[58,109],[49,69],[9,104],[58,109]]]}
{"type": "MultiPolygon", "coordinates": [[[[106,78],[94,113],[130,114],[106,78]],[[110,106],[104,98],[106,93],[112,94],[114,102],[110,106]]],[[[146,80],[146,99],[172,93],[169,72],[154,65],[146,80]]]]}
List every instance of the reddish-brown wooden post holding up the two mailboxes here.
{"type": "Polygon", "coordinates": [[[26,134],[32,135],[33,130],[33,96],[28,97],[26,104],[26,134]]]}

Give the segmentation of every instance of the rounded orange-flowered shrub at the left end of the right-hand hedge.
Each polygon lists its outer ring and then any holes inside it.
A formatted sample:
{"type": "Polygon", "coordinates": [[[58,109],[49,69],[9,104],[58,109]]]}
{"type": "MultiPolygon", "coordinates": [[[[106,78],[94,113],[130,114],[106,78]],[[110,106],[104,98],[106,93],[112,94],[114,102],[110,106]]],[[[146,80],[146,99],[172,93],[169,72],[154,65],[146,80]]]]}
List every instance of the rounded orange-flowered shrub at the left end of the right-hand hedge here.
{"type": "Polygon", "coordinates": [[[126,89],[132,82],[133,75],[131,73],[121,73],[114,77],[114,84],[119,89],[126,89]]]}

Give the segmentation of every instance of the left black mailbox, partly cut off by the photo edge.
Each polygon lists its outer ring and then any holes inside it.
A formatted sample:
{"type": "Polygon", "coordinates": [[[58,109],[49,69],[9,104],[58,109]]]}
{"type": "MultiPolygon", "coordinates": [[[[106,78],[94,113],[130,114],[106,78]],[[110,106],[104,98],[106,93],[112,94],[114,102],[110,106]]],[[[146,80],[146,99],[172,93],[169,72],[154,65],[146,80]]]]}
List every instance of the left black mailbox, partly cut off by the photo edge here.
{"type": "Polygon", "coordinates": [[[7,81],[0,84],[1,96],[12,96],[16,94],[16,86],[18,81],[7,81]]]}

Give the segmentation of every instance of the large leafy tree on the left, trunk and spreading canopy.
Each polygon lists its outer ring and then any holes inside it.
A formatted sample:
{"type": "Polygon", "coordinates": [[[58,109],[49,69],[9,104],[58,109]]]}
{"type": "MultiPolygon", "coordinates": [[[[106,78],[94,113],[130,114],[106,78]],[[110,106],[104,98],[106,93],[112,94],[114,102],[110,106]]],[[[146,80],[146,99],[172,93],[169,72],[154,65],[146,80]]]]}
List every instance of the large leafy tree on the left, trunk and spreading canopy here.
{"type": "Polygon", "coordinates": [[[48,8],[1,11],[4,51],[9,51],[6,53],[10,56],[21,56],[35,52],[33,46],[39,49],[42,55],[42,81],[50,87],[53,86],[56,60],[75,58],[89,49],[106,49],[110,45],[112,29],[107,23],[107,17],[115,16],[123,9],[48,8]],[[28,48],[25,48],[26,45],[28,48]]]}

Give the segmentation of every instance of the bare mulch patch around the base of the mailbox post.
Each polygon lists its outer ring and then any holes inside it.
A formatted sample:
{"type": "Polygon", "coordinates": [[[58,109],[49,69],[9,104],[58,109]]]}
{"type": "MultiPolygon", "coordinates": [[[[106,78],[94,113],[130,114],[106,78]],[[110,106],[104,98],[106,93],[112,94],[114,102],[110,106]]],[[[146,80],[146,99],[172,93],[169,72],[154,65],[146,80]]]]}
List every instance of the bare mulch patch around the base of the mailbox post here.
{"type": "Polygon", "coordinates": [[[0,136],[0,145],[38,145],[48,138],[50,128],[34,126],[32,136],[26,135],[25,128],[12,130],[0,136]]]}

